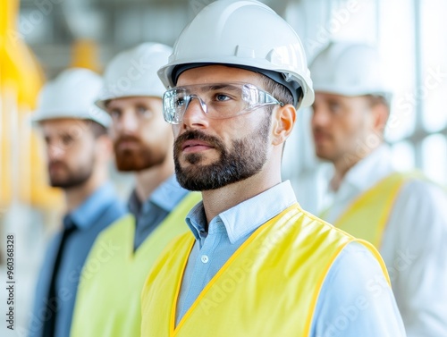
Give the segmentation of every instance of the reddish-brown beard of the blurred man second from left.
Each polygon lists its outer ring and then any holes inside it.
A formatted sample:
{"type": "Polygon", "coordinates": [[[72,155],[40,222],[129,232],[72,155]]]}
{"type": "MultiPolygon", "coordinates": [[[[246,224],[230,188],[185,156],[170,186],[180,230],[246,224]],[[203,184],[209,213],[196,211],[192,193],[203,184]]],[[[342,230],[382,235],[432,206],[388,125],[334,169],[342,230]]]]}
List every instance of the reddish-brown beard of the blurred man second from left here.
{"type": "Polygon", "coordinates": [[[114,142],[114,156],[116,168],[122,172],[142,171],[164,163],[166,154],[163,148],[152,148],[143,144],[136,137],[122,137],[114,142]],[[120,149],[122,141],[132,141],[136,148],[120,149]]]}

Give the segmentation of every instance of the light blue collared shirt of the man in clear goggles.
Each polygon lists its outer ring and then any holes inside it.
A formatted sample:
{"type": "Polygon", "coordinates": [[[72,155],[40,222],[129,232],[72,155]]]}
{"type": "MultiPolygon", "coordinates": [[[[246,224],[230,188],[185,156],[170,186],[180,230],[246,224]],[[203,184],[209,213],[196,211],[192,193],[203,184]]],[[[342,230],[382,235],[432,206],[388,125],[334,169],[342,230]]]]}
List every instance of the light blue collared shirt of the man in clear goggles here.
{"type": "MultiPolygon", "coordinates": [[[[181,282],[176,324],[250,234],[296,202],[290,182],[284,181],[215,216],[208,226],[203,203],[191,209],[186,223],[196,243],[181,282]]],[[[405,336],[391,288],[363,245],[351,243],[334,261],[316,304],[311,336],[405,336]]]]}

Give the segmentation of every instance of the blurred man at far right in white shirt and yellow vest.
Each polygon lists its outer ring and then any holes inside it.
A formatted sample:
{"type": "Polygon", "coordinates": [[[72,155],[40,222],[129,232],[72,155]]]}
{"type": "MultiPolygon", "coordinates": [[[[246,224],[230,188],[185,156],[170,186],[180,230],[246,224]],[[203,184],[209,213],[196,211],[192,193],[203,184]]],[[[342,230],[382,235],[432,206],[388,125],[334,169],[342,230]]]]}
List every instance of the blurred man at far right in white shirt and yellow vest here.
{"type": "Polygon", "coordinates": [[[391,93],[377,51],[333,43],[311,65],[316,156],[333,164],[323,217],[384,257],[409,337],[447,336],[447,198],[392,167],[391,93]]]}

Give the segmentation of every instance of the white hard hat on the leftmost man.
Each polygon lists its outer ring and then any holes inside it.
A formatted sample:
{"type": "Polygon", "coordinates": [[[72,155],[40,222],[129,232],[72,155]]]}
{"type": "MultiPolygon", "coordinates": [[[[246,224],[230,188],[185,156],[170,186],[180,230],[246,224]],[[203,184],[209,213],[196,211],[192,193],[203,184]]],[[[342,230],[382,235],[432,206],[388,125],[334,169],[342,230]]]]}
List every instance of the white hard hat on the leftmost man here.
{"type": "Polygon", "coordinates": [[[103,80],[95,72],[83,68],[67,69],[40,90],[38,109],[31,121],[75,118],[95,121],[108,128],[112,122],[110,116],[95,105],[102,86],[103,80]]]}

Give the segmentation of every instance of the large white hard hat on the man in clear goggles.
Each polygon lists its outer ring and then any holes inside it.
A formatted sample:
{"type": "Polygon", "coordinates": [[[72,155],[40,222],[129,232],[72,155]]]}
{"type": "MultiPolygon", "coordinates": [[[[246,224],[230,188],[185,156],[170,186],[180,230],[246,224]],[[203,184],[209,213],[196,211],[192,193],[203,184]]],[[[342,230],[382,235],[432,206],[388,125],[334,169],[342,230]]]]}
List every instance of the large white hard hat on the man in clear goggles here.
{"type": "Polygon", "coordinates": [[[183,29],[169,63],[158,76],[166,88],[172,88],[181,71],[216,63],[260,72],[279,81],[291,90],[295,105],[301,90],[301,106],[314,101],[301,41],[266,4],[220,0],[207,5],[183,29]]]}

